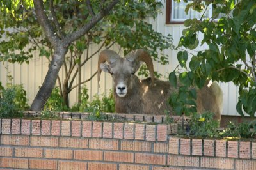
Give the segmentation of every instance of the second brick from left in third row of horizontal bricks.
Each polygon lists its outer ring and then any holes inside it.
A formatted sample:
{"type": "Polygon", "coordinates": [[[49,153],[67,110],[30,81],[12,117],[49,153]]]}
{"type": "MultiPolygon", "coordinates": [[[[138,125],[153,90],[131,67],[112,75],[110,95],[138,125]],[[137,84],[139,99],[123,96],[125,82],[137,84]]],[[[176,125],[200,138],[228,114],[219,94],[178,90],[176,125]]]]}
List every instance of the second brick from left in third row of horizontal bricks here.
{"type": "Polygon", "coordinates": [[[29,169],[57,169],[57,161],[29,159],[29,169]]]}

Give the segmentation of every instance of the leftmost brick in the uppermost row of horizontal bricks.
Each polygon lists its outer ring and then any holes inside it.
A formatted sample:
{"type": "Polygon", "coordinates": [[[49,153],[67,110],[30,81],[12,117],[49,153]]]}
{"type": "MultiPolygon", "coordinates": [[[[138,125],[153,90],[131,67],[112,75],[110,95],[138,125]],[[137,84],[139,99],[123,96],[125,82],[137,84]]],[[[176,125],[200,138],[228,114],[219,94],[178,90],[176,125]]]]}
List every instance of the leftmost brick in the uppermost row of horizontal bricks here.
{"type": "Polygon", "coordinates": [[[29,137],[24,135],[1,135],[1,144],[27,146],[29,137]]]}

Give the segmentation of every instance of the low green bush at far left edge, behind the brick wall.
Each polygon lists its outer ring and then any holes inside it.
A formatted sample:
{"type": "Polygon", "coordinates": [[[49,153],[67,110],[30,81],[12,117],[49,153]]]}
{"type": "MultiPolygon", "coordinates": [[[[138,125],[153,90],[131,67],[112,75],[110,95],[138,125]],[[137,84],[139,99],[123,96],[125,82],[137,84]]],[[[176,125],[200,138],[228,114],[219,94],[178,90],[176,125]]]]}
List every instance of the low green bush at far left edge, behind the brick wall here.
{"type": "Polygon", "coordinates": [[[17,91],[15,86],[3,88],[0,91],[0,118],[17,118],[22,116],[20,104],[15,102],[17,91]]]}

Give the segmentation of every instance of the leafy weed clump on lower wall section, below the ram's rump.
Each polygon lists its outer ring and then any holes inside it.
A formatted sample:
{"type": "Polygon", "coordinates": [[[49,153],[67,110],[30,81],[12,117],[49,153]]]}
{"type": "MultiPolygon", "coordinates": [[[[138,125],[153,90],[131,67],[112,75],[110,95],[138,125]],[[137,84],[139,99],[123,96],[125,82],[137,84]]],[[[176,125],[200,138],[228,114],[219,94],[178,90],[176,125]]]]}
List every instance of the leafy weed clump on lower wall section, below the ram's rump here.
{"type": "Polygon", "coordinates": [[[218,137],[217,128],[220,125],[218,121],[213,120],[213,116],[211,112],[193,114],[189,121],[189,134],[195,137],[218,137]]]}

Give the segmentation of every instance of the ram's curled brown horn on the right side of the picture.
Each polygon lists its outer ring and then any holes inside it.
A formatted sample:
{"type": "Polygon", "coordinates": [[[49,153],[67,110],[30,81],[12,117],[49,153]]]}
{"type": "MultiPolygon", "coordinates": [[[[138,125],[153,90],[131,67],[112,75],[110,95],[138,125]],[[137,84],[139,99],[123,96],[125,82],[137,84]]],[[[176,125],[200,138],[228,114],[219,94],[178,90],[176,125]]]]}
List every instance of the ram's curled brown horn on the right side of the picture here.
{"type": "Polygon", "coordinates": [[[153,61],[150,56],[150,54],[147,52],[147,50],[144,49],[138,49],[138,50],[133,50],[129,54],[125,56],[126,59],[128,59],[131,62],[134,62],[137,64],[137,67],[140,67],[140,61],[143,61],[146,63],[150,77],[151,77],[151,84],[154,84],[154,66],[153,66],[153,61]]]}

